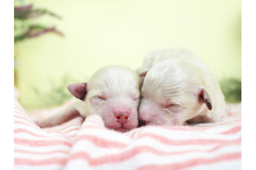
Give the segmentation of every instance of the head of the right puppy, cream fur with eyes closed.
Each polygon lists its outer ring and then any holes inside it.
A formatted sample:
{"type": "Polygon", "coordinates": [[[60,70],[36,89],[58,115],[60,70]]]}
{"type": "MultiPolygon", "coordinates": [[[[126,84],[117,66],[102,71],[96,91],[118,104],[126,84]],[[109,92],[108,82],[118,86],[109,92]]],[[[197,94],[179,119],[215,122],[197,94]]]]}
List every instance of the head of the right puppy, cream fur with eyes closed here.
{"type": "Polygon", "coordinates": [[[187,62],[160,62],[144,75],[138,115],[145,124],[182,125],[205,106],[212,107],[200,71],[187,62]]]}

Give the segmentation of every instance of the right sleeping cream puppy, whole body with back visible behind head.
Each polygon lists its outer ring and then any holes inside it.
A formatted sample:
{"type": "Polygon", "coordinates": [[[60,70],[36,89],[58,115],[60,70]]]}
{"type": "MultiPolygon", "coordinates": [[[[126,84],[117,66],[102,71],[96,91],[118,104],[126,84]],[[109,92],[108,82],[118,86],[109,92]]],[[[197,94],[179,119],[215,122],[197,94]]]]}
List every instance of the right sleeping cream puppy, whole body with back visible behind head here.
{"type": "Polygon", "coordinates": [[[144,78],[138,114],[143,124],[215,122],[226,114],[219,83],[189,50],[153,51],[139,73],[144,78]]]}

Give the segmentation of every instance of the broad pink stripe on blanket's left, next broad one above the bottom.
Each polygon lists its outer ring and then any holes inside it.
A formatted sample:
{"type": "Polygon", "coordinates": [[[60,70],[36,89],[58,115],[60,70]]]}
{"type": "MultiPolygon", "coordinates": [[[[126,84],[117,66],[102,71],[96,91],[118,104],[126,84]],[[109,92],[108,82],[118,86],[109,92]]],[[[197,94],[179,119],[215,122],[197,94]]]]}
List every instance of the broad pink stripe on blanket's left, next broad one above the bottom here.
{"type": "Polygon", "coordinates": [[[19,145],[27,145],[31,147],[36,146],[54,146],[54,145],[66,145],[72,146],[71,142],[63,141],[63,140],[29,140],[29,139],[22,139],[22,138],[14,138],[14,143],[19,145]]]}

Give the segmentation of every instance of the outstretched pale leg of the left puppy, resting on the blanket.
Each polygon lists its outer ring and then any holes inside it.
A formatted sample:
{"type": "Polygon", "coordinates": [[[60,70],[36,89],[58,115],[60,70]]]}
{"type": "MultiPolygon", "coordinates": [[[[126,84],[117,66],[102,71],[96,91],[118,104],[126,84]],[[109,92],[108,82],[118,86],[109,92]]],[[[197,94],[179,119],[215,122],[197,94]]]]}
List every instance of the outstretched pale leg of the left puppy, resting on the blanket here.
{"type": "Polygon", "coordinates": [[[79,116],[79,112],[74,108],[73,105],[67,106],[62,111],[58,112],[55,115],[50,116],[45,119],[36,119],[34,122],[39,125],[41,128],[43,127],[51,127],[63,122],[70,120],[71,118],[79,116]]]}

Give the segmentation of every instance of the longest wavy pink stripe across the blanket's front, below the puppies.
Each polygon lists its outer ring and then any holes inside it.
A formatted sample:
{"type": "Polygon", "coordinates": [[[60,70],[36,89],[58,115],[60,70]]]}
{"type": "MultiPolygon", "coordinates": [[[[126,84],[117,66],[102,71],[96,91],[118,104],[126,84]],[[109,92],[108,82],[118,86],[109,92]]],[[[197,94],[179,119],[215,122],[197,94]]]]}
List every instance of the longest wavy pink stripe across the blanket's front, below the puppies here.
{"type": "Polygon", "coordinates": [[[75,160],[75,159],[82,159],[88,162],[90,165],[100,165],[100,164],[106,164],[106,163],[116,163],[116,162],[121,162],[125,161],[127,159],[131,159],[132,157],[135,157],[137,154],[140,154],[142,152],[150,152],[156,155],[179,155],[179,154],[186,154],[189,152],[205,152],[205,153],[210,153],[213,152],[217,149],[226,147],[227,145],[221,145],[214,147],[209,150],[199,150],[199,149],[193,149],[193,150],[186,150],[186,151],[176,151],[176,152],[164,152],[164,151],[159,151],[156,150],[155,148],[151,148],[148,146],[138,146],[134,147],[131,150],[127,150],[122,153],[118,154],[111,154],[111,155],[105,155],[103,157],[99,158],[92,158],[90,155],[86,152],[75,152],[71,155],[70,160],[75,160]]]}

